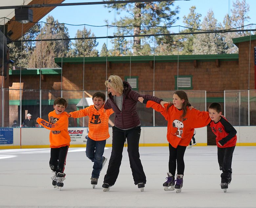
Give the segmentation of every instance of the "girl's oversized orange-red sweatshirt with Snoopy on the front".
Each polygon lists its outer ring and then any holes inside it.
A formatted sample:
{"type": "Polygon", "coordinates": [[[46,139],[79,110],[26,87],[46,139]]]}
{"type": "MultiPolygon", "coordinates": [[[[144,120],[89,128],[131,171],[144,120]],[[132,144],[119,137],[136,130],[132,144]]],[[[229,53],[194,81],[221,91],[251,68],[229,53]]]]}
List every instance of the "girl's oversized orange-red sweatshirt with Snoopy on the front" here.
{"type": "Polygon", "coordinates": [[[188,146],[193,136],[194,128],[206,126],[211,122],[209,112],[195,109],[189,110],[187,107],[186,115],[181,120],[182,110],[179,110],[172,105],[167,111],[168,104],[165,104],[164,106],[165,108],[154,101],[147,101],[146,104],[146,107],[152,107],[160,112],[165,120],[168,121],[167,141],[175,148],[177,148],[178,145],[188,146]]]}

